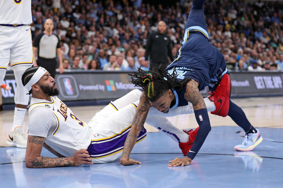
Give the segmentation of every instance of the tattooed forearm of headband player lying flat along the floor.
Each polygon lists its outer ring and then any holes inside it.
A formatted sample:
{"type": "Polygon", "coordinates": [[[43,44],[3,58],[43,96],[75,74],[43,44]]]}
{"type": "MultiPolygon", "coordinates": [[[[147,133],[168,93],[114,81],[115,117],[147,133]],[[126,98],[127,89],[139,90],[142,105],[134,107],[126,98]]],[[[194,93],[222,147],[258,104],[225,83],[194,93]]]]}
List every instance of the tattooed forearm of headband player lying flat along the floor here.
{"type": "Polygon", "coordinates": [[[50,167],[68,167],[73,166],[73,163],[68,157],[64,158],[50,158],[38,156],[31,161],[32,168],[50,168],[50,167]]]}

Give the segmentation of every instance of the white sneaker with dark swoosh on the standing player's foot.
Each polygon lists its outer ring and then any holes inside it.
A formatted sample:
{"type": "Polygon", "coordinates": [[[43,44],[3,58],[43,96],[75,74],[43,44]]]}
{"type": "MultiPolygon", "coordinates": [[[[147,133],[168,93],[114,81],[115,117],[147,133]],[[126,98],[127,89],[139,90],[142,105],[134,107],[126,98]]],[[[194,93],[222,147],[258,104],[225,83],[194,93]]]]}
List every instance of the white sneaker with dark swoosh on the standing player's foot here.
{"type": "Polygon", "coordinates": [[[6,143],[22,148],[27,147],[27,140],[24,138],[22,127],[16,127],[14,131],[11,131],[6,143]]]}

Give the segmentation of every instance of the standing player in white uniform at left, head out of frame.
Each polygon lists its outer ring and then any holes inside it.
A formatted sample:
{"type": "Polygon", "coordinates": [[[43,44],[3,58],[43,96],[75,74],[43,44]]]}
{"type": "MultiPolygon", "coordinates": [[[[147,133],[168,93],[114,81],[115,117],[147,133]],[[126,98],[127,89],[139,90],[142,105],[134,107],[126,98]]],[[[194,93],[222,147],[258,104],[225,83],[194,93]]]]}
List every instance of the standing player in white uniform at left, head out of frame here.
{"type": "Polygon", "coordinates": [[[25,95],[27,90],[21,78],[33,64],[31,23],[31,0],[0,0],[0,83],[4,80],[9,61],[17,83],[13,126],[6,142],[17,147],[27,146],[22,123],[29,96],[25,95]]]}

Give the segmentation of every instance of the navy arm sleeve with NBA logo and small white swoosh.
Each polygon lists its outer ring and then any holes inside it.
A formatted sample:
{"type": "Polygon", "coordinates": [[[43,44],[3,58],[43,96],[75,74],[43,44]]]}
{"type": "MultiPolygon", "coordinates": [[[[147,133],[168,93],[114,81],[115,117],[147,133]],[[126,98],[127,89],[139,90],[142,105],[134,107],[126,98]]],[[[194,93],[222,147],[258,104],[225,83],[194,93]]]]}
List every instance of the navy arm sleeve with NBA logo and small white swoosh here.
{"type": "Polygon", "coordinates": [[[205,141],[208,133],[211,130],[210,121],[209,121],[209,117],[208,117],[206,108],[195,110],[195,119],[197,120],[200,128],[198,130],[197,136],[195,137],[195,141],[192,144],[192,148],[186,155],[190,159],[195,158],[201,146],[203,145],[203,142],[205,141]]]}

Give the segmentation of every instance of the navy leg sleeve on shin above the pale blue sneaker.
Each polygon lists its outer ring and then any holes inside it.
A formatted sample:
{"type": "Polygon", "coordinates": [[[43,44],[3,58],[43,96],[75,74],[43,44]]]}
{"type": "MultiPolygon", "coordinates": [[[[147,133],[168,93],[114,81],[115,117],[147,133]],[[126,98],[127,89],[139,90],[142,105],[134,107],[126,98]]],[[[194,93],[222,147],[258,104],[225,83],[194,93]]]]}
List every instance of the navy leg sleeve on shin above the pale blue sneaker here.
{"type": "Polygon", "coordinates": [[[251,123],[247,119],[244,111],[231,100],[229,105],[228,116],[230,116],[237,125],[242,127],[245,132],[248,131],[251,128],[251,123]]]}

